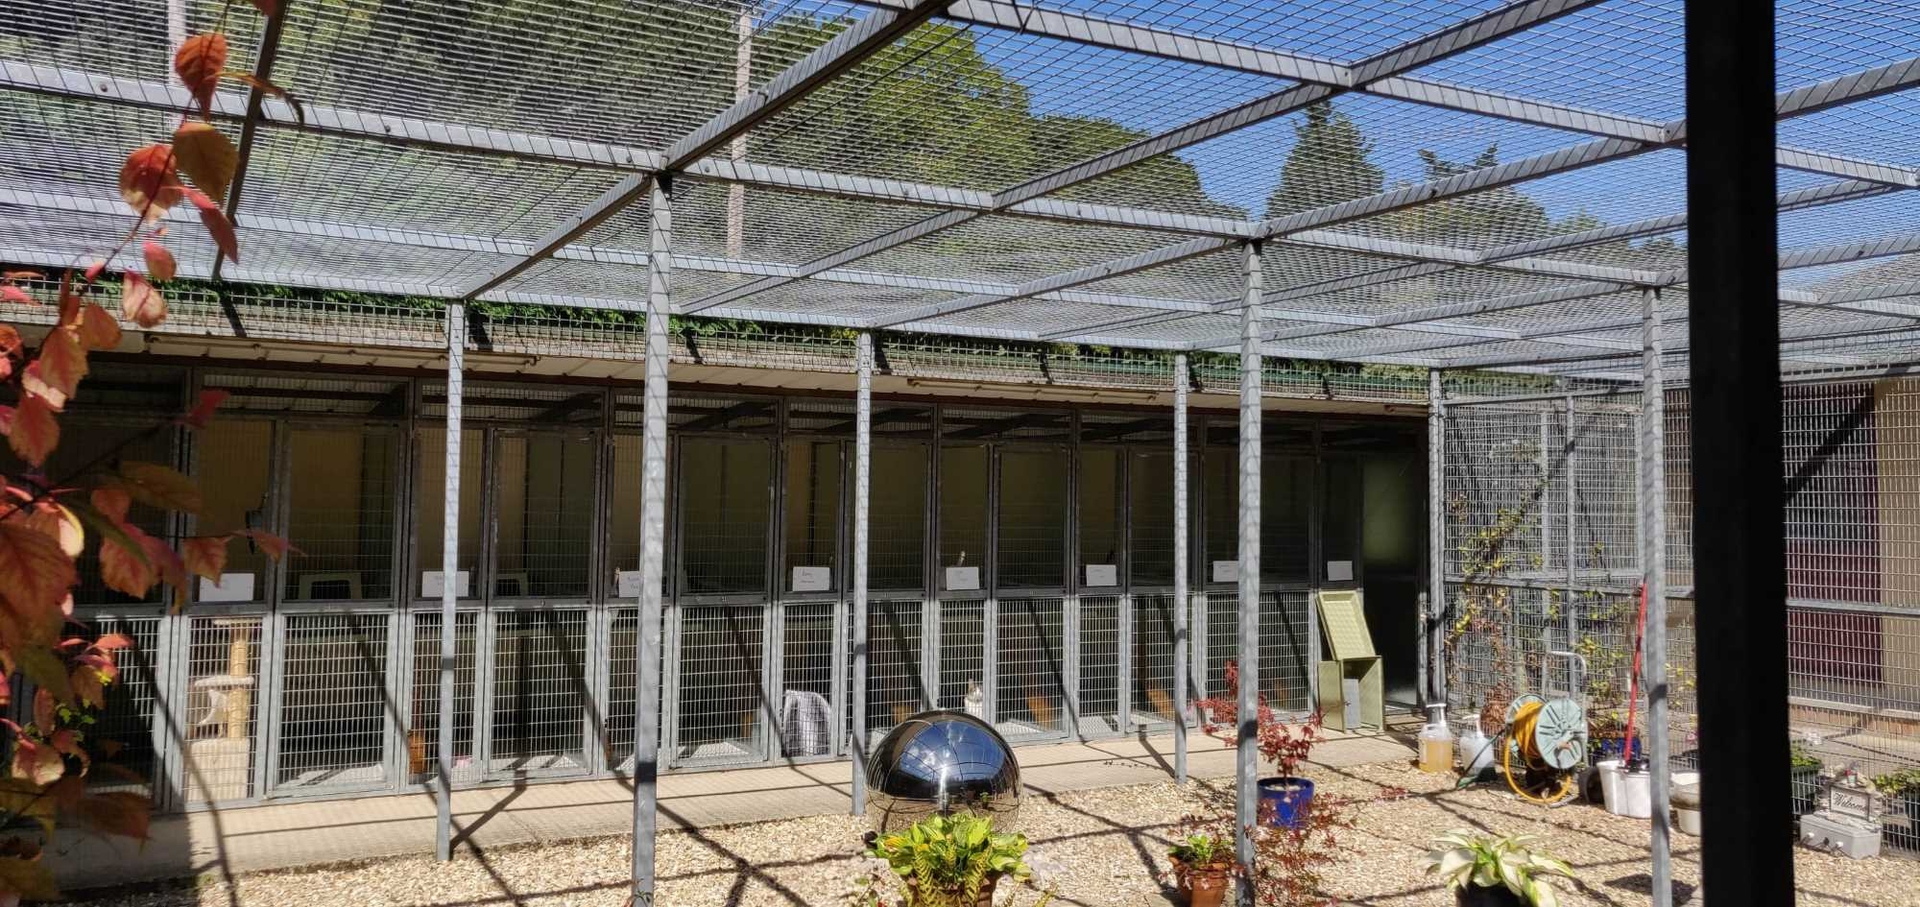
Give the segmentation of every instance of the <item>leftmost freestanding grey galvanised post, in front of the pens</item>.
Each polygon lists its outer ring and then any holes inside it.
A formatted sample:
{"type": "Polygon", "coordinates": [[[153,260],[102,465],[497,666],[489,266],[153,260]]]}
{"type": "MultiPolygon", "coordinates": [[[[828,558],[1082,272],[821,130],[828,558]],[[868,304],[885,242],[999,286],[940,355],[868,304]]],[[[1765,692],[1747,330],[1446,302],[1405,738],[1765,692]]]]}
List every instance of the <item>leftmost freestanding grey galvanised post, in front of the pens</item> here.
{"type": "Polygon", "coordinates": [[[461,394],[467,367],[467,306],[447,304],[447,463],[440,527],[440,813],[434,817],[434,855],[453,859],[453,669],[459,665],[461,569],[461,394]]]}

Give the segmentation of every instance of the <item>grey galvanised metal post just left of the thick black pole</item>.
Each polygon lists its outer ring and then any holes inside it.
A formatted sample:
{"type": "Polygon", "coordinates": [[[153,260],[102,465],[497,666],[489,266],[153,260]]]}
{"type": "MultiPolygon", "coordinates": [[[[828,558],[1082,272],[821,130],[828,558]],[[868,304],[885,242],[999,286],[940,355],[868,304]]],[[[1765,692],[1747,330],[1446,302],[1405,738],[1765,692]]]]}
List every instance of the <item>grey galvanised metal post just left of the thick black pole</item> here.
{"type": "Polygon", "coordinates": [[[1647,596],[1647,763],[1653,769],[1653,907],[1672,907],[1670,755],[1667,738],[1667,380],[1661,369],[1661,302],[1640,290],[1640,569],[1647,596]]]}

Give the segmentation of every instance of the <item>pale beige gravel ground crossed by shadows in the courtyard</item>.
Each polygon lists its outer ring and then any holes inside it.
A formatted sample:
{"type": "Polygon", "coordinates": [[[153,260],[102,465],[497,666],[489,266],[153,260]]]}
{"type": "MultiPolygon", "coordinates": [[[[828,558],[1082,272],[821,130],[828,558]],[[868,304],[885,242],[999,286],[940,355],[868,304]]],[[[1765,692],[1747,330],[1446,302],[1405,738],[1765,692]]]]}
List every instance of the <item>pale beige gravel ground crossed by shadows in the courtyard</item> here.
{"type": "MultiPolygon", "coordinates": [[[[1367,907],[1444,907],[1453,899],[1423,874],[1425,844],[1450,828],[1530,832],[1567,857],[1578,882],[1561,886],[1567,905],[1638,907],[1647,897],[1645,822],[1572,805],[1542,809],[1492,788],[1446,790],[1440,778],[1394,765],[1317,769],[1323,792],[1357,797],[1346,832],[1350,859],[1329,867],[1327,894],[1367,907]],[[1569,890],[1571,888],[1571,890],[1569,890]]],[[[1165,905],[1158,874],[1167,869],[1171,824],[1204,796],[1173,784],[1108,788],[1031,797],[1021,826],[1035,853],[1062,878],[1062,901],[1079,905],[1165,905]]],[[[849,817],[814,817],[660,838],[660,905],[831,905],[843,903],[858,870],[864,826],[849,817]]],[[[1697,838],[1676,840],[1676,903],[1701,903],[1697,838]]],[[[278,907],[278,905],[513,905],[618,907],[626,842],[618,838],[495,849],[438,865],[424,857],[261,872],[232,882],[100,894],[98,907],[278,907]]],[[[1795,853],[1801,905],[1920,907],[1920,861],[1849,861],[1795,853]]],[[[1021,901],[1025,903],[1025,901],[1021,901]]],[[[1732,905],[1726,905],[1732,907],[1732,905]]]]}

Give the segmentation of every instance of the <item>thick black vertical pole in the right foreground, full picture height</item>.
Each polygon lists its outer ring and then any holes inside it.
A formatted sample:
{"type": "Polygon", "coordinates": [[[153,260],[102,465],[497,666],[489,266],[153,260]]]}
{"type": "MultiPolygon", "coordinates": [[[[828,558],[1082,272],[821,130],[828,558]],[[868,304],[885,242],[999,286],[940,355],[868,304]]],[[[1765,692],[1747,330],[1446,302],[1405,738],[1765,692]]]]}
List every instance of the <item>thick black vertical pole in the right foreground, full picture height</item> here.
{"type": "Polygon", "coordinates": [[[1688,2],[1686,71],[1701,882],[1789,907],[1774,4],[1688,2]]]}

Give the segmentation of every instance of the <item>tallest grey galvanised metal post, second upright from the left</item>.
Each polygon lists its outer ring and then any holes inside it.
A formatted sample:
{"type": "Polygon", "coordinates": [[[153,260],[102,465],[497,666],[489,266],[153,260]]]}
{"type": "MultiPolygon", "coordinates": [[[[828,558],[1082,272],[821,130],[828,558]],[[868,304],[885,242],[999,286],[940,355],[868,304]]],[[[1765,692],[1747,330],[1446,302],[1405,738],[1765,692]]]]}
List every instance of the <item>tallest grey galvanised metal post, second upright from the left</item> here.
{"type": "Polygon", "coordinates": [[[649,200],[647,384],[639,465],[639,638],[634,680],[634,903],[653,903],[653,836],[660,757],[660,607],[666,576],[666,317],[672,311],[672,192],[660,173],[649,200]]]}

